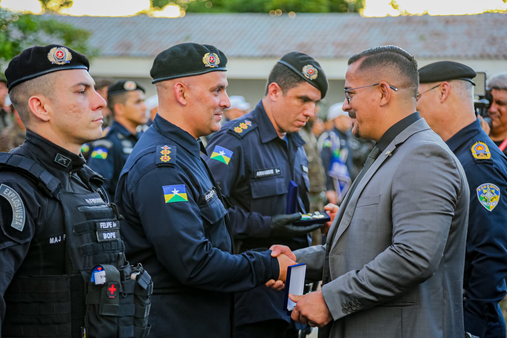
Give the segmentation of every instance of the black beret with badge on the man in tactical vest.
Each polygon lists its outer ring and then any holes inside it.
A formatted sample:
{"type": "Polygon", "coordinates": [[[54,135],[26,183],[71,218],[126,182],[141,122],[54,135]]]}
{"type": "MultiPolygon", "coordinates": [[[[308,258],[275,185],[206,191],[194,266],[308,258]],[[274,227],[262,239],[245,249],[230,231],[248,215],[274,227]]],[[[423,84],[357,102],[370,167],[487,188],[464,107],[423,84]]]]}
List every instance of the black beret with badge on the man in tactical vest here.
{"type": "Polygon", "coordinates": [[[9,91],[20,83],[57,70],[90,69],[88,58],[61,45],[34,46],[16,55],[5,70],[9,91]]]}

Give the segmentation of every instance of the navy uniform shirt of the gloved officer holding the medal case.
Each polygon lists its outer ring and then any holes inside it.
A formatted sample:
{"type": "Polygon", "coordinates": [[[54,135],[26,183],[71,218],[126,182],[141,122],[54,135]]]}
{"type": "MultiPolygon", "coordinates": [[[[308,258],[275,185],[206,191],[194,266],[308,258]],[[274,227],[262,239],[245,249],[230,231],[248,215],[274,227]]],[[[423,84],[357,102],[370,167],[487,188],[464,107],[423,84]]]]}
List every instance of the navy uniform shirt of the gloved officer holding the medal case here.
{"type": "MultiPolygon", "coordinates": [[[[229,208],[241,251],[283,244],[292,250],[307,247],[310,235],[270,237],[270,216],[286,213],[288,182],[298,184],[297,211],[309,209],[308,158],[299,133],[280,139],[262,101],[248,114],[222,126],[207,146],[209,165],[229,208]]],[[[236,325],[291,318],[282,311],[283,291],[265,286],[237,295],[236,325]],[[255,315],[252,315],[255,314],[255,315]]]]}

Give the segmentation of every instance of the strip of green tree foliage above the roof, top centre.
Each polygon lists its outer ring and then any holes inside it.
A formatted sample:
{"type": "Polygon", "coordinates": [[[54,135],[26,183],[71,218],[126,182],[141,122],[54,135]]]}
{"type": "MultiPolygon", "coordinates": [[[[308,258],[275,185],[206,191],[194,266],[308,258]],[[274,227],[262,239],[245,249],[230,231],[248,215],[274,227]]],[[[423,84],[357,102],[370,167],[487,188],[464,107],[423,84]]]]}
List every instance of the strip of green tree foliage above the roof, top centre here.
{"type": "Polygon", "coordinates": [[[199,13],[330,13],[357,12],[364,7],[364,0],[152,0],[154,8],[168,3],[182,7],[186,12],[199,13]]]}

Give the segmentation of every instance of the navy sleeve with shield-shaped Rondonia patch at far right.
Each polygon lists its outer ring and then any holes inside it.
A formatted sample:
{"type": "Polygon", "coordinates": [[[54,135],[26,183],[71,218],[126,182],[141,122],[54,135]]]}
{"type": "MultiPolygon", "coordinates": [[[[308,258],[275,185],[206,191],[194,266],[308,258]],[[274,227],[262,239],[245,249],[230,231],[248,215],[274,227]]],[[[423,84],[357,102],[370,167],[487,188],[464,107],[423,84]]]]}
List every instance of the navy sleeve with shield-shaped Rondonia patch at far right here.
{"type": "Polygon", "coordinates": [[[507,182],[505,173],[490,164],[475,164],[465,173],[470,188],[470,211],[463,315],[465,331],[483,337],[488,322],[498,321],[497,304],[505,296],[507,182]]]}

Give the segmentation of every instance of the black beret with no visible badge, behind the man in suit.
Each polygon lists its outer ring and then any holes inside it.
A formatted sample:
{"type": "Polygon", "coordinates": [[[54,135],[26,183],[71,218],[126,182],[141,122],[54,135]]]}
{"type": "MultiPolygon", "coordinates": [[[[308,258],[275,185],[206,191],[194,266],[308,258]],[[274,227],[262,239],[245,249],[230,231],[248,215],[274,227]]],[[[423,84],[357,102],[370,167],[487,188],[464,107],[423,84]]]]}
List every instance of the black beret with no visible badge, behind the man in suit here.
{"type": "Polygon", "coordinates": [[[449,80],[464,80],[475,86],[473,78],[477,73],[474,69],[454,61],[433,62],[419,68],[419,83],[431,83],[449,80]]]}

